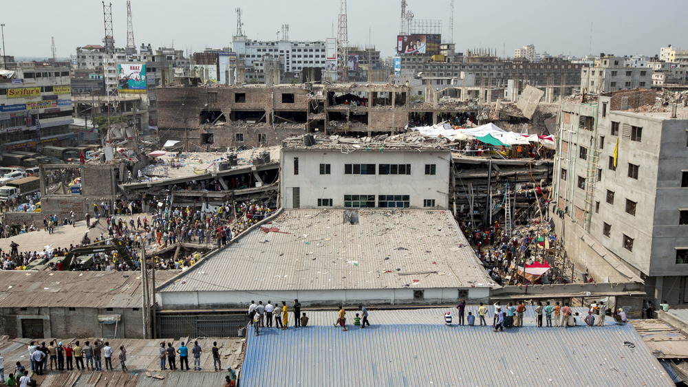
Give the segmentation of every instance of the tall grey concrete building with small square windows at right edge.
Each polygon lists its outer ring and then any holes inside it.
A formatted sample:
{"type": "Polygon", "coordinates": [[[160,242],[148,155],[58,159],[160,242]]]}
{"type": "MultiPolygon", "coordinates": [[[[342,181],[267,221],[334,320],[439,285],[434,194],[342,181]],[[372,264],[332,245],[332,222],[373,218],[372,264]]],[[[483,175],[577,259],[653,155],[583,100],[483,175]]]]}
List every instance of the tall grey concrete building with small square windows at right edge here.
{"type": "Polygon", "coordinates": [[[688,120],[615,104],[563,104],[555,230],[594,280],[637,277],[656,301],[688,303],[688,120]]]}

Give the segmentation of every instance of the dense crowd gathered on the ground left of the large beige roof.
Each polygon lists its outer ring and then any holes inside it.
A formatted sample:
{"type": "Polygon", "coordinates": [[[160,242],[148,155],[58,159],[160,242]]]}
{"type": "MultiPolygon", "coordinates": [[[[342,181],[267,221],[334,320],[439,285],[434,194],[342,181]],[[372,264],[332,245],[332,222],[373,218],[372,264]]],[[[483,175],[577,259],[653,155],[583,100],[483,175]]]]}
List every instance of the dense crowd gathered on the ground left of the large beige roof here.
{"type": "MultiPolygon", "coordinates": [[[[195,243],[199,245],[215,245],[222,247],[227,245],[241,232],[258,223],[275,212],[274,208],[252,203],[226,202],[217,206],[213,211],[201,211],[190,207],[169,206],[164,200],[151,199],[149,203],[141,201],[116,201],[112,205],[103,202],[94,203],[92,212],[85,214],[87,226],[92,221],[103,221],[106,232],[101,232],[93,241],[85,236],[82,243],[70,244],[69,247],[45,247],[42,251],[20,252],[19,244],[12,241],[9,252],[0,252],[0,269],[14,270],[25,269],[26,265],[36,259],[50,260],[56,256],[65,256],[67,252],[80,245],[92,242],[112,244],[114,239],[123,241],[129,256],[136,258],[140,247],[145,246],[147,254],[164,250],[175,243],[195,243]],[[151,213],[142,213],[143,205],[154,209],[151,213]],[[127,215],[128,214],[128,215],[127,215]],[[150,216],[150,219],[149,219],[150,216]]],[[[58,219],[57,215],[43,217],[43,226],[20,225],[22,232],[39,232],[45,230],[52,234],[56,228],[76,226],[76,214],[72,212],[64,219],[58,219]]],[[[10,225],[0,223],[3,234],[10,234],[10,225]]],[[[138,269],[138,261],[133,259],[133,265],[120,259],[118,252],[99,252],[94,259],[94,265],[86,269],[95,271],[111,271],[113,269],[129,270],[138,269]]],[[[189,267],[200,259],[199,252],[193,252],[178,259],[164,259],[154,256],[153,262],[157,269],[182,269],[189,267]]],[[[82,269],[80,267],[56,267],[56,269],[82,269]]]]}

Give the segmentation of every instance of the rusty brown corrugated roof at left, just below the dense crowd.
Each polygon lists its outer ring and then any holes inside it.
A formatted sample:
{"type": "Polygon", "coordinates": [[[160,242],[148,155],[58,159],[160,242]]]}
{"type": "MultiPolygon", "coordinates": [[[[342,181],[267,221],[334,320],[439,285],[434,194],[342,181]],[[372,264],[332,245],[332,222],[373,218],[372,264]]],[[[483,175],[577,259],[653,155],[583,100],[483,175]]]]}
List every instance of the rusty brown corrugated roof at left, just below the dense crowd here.
{"type": "MultiPolygon", "coordinates": [[[[177,270],[158,270],[162,284],[177,270]]],[[[0,308],[136,308],[142,303],[140,272],[0,271],[0,308]]]]}

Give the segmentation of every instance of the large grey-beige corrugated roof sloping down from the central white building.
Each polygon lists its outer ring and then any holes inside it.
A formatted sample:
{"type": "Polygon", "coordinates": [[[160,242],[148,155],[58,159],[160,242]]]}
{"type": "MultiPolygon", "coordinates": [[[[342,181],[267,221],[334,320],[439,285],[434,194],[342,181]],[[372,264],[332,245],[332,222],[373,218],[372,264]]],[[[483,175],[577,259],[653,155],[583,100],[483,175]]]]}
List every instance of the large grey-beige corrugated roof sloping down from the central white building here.
{"type": "Polygon", "coordinates": [[[286,210],[192,267],[162,291],[490,287],[446,211],[286,210]],[[402,275],[417,273],[413,275],[402,275]]]}

